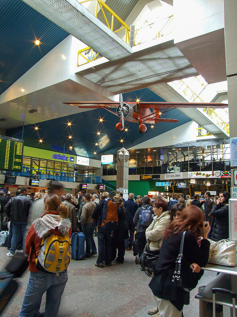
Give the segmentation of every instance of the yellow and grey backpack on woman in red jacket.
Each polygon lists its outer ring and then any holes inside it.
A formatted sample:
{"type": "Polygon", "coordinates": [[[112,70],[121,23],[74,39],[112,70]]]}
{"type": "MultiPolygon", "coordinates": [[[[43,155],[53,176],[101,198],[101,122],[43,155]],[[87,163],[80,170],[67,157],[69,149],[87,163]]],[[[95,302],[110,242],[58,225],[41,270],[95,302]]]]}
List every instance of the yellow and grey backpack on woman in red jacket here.
{"type": "Polygon", "coordinates": [[[67,233],[65,236],[51,234],[42,239],[40,253],[37,262],[50,273],[64,271],[71,259],[71,239],[67,233]]]}

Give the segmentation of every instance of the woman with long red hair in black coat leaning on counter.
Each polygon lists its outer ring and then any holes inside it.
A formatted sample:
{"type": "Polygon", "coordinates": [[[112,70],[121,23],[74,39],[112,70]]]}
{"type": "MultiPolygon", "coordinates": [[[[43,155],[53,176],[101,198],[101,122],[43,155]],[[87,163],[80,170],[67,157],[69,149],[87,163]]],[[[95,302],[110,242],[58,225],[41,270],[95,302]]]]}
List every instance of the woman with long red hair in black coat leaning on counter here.
{"type": "MultiPolygon", "coordinates": [[[[160,317],[181,317],[184,306],[184,299],[187,292],[173,284],[173,272],[175,262],[179,254],[179,247],[183,232],[185,233],[183,256],[190,268],[195,272],[200,272],[199,266],[204,266],[209,259],[210,242],[207,234],[210,231],[209,223],[204,226],[204,213],[196,206],[185,208],[180,220],[174,220],[167,228],[164,240],[161,245],[160,256],[154,270],[154,276],[149,283],[160,317]],[[196,236],[203,231],[203,239],[200,248],[197,244],[196,236]]],[[[185,272],[182,272],[185,274],[185,272]]]]}

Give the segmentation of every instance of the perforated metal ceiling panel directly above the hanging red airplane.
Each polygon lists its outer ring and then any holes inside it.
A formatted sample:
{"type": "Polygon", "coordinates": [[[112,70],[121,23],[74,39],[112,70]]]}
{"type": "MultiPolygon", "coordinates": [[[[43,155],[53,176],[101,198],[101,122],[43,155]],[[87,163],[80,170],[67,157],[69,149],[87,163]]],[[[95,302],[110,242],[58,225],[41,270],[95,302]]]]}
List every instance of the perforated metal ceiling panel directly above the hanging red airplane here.
{"type": "Polygon", "coordinates": [[[137,51],[117,61],[106,62],[95,69],[82,70],[78,74],[113,93],[198,75],[173,40],[137,51]]]}

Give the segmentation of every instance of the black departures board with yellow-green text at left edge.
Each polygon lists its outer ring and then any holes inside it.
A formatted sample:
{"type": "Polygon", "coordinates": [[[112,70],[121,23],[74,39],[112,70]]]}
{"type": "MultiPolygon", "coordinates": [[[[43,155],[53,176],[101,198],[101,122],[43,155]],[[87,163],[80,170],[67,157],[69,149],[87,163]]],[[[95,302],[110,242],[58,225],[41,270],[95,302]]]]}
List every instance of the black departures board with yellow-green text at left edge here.
{"type": "Polygon", "coordinates": [[[21,171],[23,140],[0,135],[0,170],[21,171]]]}

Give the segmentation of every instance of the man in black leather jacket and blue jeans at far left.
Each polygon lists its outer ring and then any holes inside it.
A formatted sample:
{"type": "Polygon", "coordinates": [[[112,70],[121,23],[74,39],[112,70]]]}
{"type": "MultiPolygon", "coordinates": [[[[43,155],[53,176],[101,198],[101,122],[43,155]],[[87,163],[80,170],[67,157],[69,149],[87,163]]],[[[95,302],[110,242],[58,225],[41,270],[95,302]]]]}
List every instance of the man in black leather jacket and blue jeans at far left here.
{"type": "Polygon", "coordinates": [[[21,229],[22,233],[24,233],[26,229],[29,209],[32,204],[30,198],[27,197],[27,194],[28,189],[26,187],[22,187],[20,195],[10,200],[10,203],[7,204],[4,208],[6,215],[10,217],[10,220],[12,222],[11,249],[10,252],[7,253],[7,256],[15,255],[19,230],[21,229]]]}

